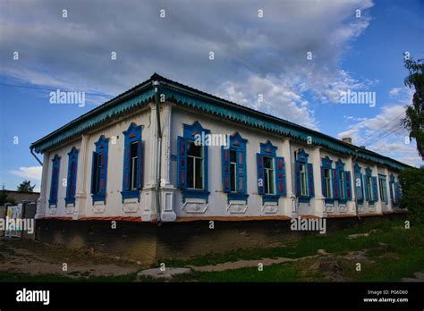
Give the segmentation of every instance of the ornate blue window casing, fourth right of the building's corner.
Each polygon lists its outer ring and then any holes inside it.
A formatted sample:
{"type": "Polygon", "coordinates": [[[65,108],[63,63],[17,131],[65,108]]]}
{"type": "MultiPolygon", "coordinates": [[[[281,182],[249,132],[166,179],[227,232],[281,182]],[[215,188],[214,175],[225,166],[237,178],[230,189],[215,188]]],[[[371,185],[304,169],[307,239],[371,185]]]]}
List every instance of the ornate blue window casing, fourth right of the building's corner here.
{"type": "Polygon", "coordinates": [[[304,149],[297,152],[294,169],[294,184],[299,202],[309,203],[315,196],[313,164],[308,163],[308,154],[304,149]]]}

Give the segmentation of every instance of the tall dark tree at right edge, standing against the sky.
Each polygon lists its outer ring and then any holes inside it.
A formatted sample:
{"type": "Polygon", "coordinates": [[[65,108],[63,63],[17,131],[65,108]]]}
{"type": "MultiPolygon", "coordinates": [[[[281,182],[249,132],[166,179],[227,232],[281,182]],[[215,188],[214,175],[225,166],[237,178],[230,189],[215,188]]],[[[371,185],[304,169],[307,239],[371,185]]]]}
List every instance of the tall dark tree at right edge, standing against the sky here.
{"type": "Polygon", "coordinates": [[[417,141],[417,149],[424,159],[424,59],[415,62],[405,59],[404,65],[410,74],[405,78],[405,86],[415,88],[412,105],[406,108],[406,116],[402,120],[405,129],[410,132],[410,139],[417,141]]]}

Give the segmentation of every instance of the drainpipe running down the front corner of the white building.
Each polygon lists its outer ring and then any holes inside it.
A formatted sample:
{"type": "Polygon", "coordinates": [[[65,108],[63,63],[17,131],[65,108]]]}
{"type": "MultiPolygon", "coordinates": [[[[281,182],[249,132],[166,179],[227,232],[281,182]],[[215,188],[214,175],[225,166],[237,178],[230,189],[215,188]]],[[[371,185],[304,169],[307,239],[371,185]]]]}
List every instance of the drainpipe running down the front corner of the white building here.
{"type": "Polygon", "coordinates": [[[160,214],[160,183],[161,183],[161,167],[162,167],[162,129],[160,126],[160,104],[159,104],[159,94],[158,87],[159,81],[153,81],[153,87],[155,88],[155,105],[156,105],[156,118],[157,118],[157,165],[156,165],[156,206],[157,206],[157,225],[162,224],[161,214],[160,214]]]}

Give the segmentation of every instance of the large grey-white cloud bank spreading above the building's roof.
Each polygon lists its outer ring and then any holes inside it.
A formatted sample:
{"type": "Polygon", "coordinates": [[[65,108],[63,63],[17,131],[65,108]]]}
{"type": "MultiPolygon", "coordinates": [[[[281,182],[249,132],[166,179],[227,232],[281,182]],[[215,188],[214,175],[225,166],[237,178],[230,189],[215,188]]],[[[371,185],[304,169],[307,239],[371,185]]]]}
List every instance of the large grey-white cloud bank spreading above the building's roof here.
{"type": "Polygon", "coordinates": [[[67,3],[64,19],[61,3],[8,2],[0,13],[0,72],[31,84],[116,95],[157,71],[316,129],[308,93],[332,103],[346,88],[370,83],[343,71],[340,60],[368,28],[372,5],[370,0],[90,1],[67,3]],[[357,9],[361,18],[355,17],[357,9]],[[14,51],[19,61],[13,61],[14,51]],[[261,105],[258,91],[267,98],[261,105]]]}

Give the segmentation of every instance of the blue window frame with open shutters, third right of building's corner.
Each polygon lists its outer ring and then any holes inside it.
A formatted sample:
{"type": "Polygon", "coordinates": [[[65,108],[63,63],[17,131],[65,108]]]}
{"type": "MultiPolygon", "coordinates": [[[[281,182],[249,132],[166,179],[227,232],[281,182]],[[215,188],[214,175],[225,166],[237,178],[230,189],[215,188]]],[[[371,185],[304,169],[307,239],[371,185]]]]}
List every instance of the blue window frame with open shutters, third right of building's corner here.
{"type": "Polygon", "coordinates": [[[257,154],[258,193],[263,202],[276,202],[286,196],[285,163],[283,156],[276,156],[277,147],[271,141],[260,144],[257,154]]]}

